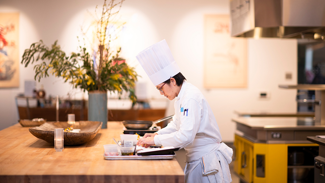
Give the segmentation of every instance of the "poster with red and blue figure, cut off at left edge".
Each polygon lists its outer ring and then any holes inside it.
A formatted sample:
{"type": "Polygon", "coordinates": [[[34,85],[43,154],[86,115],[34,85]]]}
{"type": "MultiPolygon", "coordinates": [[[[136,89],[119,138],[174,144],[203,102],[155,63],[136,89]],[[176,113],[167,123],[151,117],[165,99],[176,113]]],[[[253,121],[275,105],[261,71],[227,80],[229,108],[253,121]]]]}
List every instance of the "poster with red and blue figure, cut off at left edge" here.
{"type": "Polygon", "coordinates": [[[19,87],[19,13],[0,13],[0,88],[19,87]]]}

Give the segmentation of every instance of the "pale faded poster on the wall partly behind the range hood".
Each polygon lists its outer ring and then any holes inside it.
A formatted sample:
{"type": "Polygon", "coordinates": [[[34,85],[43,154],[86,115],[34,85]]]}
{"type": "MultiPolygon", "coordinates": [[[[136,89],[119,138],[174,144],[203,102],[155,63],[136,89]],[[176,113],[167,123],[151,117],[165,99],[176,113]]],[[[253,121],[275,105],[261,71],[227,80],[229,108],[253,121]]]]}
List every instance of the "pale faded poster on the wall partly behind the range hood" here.
{"type": "Polygon", "coordinates": [[[204,88],[247,87],[247,40],[229,25],[229,15],[204,15],[204,88]]]}

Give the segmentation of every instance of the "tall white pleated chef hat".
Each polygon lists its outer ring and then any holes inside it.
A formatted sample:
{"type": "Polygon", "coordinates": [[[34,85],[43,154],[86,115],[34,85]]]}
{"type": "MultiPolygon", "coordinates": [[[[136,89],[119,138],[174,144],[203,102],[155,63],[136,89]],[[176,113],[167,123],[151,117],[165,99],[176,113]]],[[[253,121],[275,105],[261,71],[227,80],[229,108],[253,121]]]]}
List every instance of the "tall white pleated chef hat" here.
{"type": "Polygon", "coordinates": [[[155,86],[181,71],[175,62],[166,40],[162,40],[144,49],[136,55],[136,59],[155,86]]]}

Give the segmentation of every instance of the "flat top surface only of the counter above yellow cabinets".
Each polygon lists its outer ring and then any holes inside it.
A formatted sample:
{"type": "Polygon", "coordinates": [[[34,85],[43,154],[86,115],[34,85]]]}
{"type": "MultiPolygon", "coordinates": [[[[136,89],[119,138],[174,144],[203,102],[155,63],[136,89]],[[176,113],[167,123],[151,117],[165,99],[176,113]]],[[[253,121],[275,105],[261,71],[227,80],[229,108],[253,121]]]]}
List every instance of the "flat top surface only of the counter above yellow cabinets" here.
{"type": "Polygon", "coordinates": [[[256,130],[325,130],[311,117],[238,117],[232,121],[256,130]]]}

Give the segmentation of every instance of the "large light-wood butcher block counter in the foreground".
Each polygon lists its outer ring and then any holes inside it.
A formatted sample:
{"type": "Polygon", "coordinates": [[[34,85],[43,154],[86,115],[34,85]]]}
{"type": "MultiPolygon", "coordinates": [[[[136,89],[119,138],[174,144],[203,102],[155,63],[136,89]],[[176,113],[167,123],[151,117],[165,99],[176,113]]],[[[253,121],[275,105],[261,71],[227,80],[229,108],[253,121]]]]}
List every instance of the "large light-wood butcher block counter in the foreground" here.
{"type": "Polygon", "coordinates": [[[107,124],[91,141],[64,146],[33,136],[19,123],[0,131],[0,182],[184,182],[184,172],[172,160],[105,160],[105,144],[123,134],[121,122],[107,124]]]}

